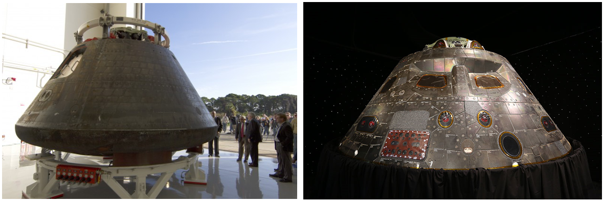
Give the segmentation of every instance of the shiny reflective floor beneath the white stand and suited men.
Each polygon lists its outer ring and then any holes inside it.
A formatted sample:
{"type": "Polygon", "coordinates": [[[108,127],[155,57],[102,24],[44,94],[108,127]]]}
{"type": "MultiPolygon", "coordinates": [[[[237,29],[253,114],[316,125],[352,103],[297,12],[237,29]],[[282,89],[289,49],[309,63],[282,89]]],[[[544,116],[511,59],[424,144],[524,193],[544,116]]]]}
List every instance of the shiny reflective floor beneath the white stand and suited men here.
{"type": "MultiPolygon", "coordinates": [[[[21,198],[25,187],[31,185],[36,171],[34,161],[28,161],[24,155],[40,153],[40,147],[28,144],[2,146],[2,198],[21,198]]],[[[172,156],[186,156],[184,150],[172,156]]],[[[293,182],[282,183],[280,179],[268,176],[277,167],[276,158],[260,156],[259,167],[249,167],[247,163],[237,162],[237,153],[220,151],[220,158],[208,158],[200,155],[201,170],[205,171],[207,185],[183,183],[186,170],[178,170],[163,187],[157,198],[297,198],[297,168],[293,168],[293,182]]],[[[71,154],[68,162],[77,164],[107,165],[99,156],[81,156],[71,154]]],[[[160,174],[147,177],[147,192],[154,186],[160,174]]],[[[133,180],[115,178],[125,190],[132,194],[136,183],[133,180]]],[[[119,198],[106,183],[97,186],[81,187],[60,185],[64,192],[62,198],[119,198]]]]}

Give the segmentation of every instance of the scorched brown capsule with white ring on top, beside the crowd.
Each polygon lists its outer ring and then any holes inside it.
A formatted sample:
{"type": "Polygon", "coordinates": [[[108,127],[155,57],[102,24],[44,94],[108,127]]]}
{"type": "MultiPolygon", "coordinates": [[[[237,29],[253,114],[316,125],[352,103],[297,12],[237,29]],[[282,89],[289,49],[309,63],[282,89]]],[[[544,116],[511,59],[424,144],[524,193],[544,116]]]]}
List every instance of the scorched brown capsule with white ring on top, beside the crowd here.
{"type": "Polygon", "coordinates": [[[15,124],[22,141],[114,156],[114,165],[129,166],[169,162],[171,152],[198,148],[216,135],[216,123],[168,49],[165,28],[107,16],[82,25],[76,38],[77,46],[15,124]],[[153,28],[156,37],[109,31],[120,22],[153,28]],[[84,29],[94,25],[104,27],[104,38],[82,41],[84,29]]]}

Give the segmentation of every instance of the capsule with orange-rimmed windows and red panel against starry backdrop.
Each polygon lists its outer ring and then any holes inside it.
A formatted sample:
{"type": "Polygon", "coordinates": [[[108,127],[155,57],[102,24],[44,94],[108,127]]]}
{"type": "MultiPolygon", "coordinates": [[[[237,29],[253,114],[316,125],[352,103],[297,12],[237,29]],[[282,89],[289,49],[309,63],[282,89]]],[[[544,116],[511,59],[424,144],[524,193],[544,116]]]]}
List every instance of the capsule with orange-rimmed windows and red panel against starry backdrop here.
{"type": "Polygon", "coordinates": [[[400,60],[339,150],[377,164],[464,170],[538,164],[572,147],[506,58],[447,37],[400,60]]]}

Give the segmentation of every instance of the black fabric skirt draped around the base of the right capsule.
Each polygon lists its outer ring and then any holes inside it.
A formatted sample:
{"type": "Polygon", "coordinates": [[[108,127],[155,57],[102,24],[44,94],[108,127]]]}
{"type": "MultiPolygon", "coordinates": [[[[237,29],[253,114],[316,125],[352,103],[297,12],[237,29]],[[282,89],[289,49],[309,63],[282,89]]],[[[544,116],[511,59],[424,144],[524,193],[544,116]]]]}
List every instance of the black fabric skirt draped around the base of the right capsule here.
{"type": "MultiPolygon", "coordinates": [[[[567,137],[566,137],[567,138],[567,137]]],[[[488,170],[434,170],[378,165],[343,155],[336,140],[318,162],[314,198],[562,199],[595,198],[586,152],[541,164],[488,170]]]]}

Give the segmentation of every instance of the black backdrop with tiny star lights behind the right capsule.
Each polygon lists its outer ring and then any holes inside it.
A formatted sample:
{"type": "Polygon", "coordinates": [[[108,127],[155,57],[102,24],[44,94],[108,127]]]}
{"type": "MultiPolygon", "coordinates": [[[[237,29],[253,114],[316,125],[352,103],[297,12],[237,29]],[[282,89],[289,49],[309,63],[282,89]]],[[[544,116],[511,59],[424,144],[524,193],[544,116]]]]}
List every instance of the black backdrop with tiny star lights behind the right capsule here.
{"type": "Polygon", "coordinates": [[[323,145],[343,138],[402,57],[444,37],[478,40],[507,58],[561,132],[582,142],[601,182],[601,2],[304,8],[304,198],[312,198],[323,145]]]}

